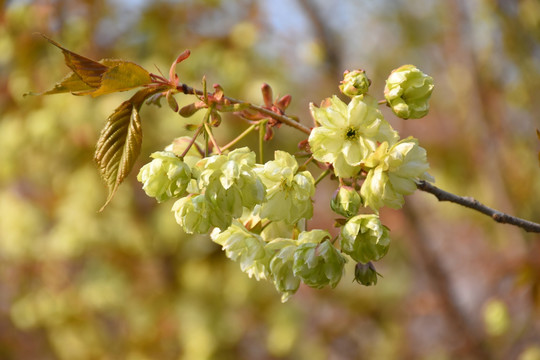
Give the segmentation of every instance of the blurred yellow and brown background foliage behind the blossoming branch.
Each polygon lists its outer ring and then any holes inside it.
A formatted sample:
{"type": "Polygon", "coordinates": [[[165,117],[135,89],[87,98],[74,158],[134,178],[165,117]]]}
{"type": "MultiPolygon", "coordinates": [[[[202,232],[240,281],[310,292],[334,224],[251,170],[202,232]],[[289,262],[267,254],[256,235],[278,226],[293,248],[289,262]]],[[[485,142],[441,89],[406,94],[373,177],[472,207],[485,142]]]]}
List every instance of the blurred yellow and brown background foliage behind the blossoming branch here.
{"type": "MultiPolygon", "coordinates": [[[[382,98],[413,63],[435,79],[431,112],[396,119],[428,150],[436,184],[540,220],[540,2],[7,1],[0,13],[1,359],[540,359],[540,238],[417,192],[383,211],[392,230],[375,287],[302,287],[282,304],[135,179],[186,120],[144,107],[143,151],[112,204],[92,161],[105,119],[128,94],[44,91],[68,69],[35,32],[93,59],[121,58],[200,88],[261,102],[260,85],[309,102],[363,68],[382,98]]],[[[187,104],[189,97],[177,97],[187,104]]],[[[221,141],[245,124],[226,117],[221,141]]],[[[268,149],[295,151],[282,127],[268,149]]],[[[249,144],[249,142],[246,142],[249,144]]],[[[332,225],[323,183],[314,226],[332,225]]]]}

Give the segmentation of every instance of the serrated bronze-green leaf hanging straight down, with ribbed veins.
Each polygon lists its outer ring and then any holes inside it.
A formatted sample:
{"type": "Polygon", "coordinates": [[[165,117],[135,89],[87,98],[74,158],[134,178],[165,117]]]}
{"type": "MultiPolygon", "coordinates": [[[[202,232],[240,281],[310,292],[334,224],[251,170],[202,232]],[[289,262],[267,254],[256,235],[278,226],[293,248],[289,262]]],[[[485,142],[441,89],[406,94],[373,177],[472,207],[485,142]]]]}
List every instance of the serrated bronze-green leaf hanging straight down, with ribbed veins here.
{"type": "Polygon", "coordinates": [[[142,128],[139,110],[144,100],[162,89],[142,89],[124,101],[109,116],[99,137],[94,160],[107,183],[109,195],[100,211],[112,200],[118,186],[130,173],[139,156],[142,128]]]}

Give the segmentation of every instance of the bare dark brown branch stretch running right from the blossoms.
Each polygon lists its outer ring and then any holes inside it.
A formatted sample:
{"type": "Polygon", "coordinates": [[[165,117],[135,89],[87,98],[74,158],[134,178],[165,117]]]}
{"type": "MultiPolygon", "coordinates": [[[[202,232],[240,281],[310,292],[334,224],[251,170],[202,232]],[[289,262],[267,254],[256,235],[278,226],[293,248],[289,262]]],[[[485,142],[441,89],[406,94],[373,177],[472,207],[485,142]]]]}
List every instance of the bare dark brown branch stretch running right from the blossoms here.
{"type": "Polygon", "coordinates": [[[491,217],[496,222],[499,222],[502,224],[515,225],[528,232],[540,233],[540,224],[532,222],[532,221],[524,220],[515,216],[511,216],[503,212],[500,212],[498,210],[492,209],[471,197],[462,197],[462,196],[449,193],[447,191],[439,189],[438,187],[424,180],[420,180],[416,184],[416,186],[418,187],[419,190],[433,194],[439,201],[450,201],[450,202],[468,207],[470,209],[479,211],[482,214],[485,214],[491,217]]]}

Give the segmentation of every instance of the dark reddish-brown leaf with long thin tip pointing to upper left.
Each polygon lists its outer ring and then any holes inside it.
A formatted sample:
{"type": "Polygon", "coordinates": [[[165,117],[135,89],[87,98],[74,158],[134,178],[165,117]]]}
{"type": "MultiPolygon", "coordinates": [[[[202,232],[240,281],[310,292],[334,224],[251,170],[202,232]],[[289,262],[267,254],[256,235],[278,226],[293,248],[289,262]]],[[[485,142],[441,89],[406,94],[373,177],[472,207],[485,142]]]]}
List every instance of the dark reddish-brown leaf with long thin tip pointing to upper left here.
{"type": "Polygon", "coordinates": [[[101,85],[101,77],[109,69],[108,66],[76,54],[43,34],[41,34],[41,36],[62,50],[66,65],[73,70],[73,72],[77,74],[83,82],[92,88],[98,88],[101,85]]]}

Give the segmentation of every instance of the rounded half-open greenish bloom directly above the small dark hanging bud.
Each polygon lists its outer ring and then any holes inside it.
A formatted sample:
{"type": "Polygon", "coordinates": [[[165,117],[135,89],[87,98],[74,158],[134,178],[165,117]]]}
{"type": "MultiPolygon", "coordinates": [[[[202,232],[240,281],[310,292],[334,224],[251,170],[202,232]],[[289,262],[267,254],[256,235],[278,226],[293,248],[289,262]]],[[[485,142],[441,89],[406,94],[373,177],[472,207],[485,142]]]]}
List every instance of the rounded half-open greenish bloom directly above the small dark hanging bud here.
{"type": "Polygon", "coordinates": [[[388,228],[377,215],[357,215],[341,229],[341,251],[356,261],[377,261],[386,255],[389,246],[388,228]]]}

